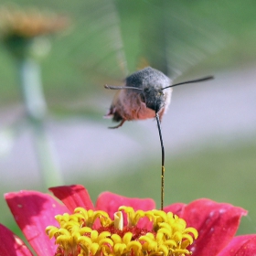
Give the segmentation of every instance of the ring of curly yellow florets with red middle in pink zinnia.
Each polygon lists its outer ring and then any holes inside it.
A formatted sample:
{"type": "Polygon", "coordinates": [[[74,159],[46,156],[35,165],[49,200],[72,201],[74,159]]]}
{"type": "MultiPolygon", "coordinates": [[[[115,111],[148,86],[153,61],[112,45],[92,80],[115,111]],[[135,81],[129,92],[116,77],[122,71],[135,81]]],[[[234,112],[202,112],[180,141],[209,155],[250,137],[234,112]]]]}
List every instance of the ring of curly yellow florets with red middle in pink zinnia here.
{"type": "Polygon", "coordinates": [[[59,228],[49,226],[46,231],[58,244],[58,256],[185,256],[192,254],[187,246],[198,235],[197,229],[187,228],[184,219],[156,209],[121,207],[112,220],[104,211],[76,208],[74,214],[57,215],[56,219],[59,228]],[[127,214],[125,226],[123,212],[127,214]],[[144,218],[150,220],[152,229],[138,227],[144,218]]]}

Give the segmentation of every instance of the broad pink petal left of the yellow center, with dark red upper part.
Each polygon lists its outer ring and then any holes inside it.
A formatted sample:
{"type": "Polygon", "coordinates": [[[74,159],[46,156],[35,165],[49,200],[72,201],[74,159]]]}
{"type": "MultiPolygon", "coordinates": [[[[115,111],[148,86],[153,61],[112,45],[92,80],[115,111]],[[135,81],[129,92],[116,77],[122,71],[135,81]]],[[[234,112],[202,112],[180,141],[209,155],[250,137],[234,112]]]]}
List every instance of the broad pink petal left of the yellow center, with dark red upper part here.
{"type": "Polygon", "coordinates": [[[54,217],[69,210],[59,205],[53,197],[36,191],[7,193],[5,200],[37,255],[54,255],[54,240],[48,239],[45,230],[49,225],[58,225],[54,217]]]}

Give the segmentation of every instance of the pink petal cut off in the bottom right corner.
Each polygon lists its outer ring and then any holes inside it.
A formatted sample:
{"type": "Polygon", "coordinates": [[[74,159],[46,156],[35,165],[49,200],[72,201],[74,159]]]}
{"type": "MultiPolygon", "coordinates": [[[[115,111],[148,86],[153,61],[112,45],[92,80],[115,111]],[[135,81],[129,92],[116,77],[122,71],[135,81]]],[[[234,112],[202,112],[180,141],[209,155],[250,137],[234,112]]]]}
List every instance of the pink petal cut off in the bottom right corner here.
{"type": "Polygon", "coordinates": [[[256,235],[246,235],[233,238],[218,256],[255,256],[256,235]]]}

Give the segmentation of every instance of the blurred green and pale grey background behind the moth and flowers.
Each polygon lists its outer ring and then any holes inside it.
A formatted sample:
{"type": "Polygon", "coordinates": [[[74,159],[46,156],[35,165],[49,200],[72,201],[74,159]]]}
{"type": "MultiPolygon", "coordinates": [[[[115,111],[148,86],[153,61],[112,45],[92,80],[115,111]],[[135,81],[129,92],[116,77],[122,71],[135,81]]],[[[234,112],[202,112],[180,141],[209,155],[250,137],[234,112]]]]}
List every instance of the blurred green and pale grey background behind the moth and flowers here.
{"type": "MultiPolygon", "coordinates": [[[[102,85],[122,85],[144,59],[173,78],[175,69],[182,70],[176,81],[214,75],[215,80],[174,89],[163,121],[165,205],[198,197],[229,202],[249,210],[240,233],[256,232],[254,1],[14,3],[69,16],[69,28],[50,38],[50,53],[41,60],[47,131],[65,184],[84,185],[93,200],[110,190],[153,197],[159,207],[156,123],[107,129],[112,123],[102,115],[115,91],[102,85]]],[[[16,65],[0,44],[0,129],[15,127],[23,118],[16,65]]],[[[0,194],[47,191],[29,126],[15,137],[7,132],[0,141],[0,194]]],[[[0,208],[0,222],[16,230],[3,197],[0,208]]]]}

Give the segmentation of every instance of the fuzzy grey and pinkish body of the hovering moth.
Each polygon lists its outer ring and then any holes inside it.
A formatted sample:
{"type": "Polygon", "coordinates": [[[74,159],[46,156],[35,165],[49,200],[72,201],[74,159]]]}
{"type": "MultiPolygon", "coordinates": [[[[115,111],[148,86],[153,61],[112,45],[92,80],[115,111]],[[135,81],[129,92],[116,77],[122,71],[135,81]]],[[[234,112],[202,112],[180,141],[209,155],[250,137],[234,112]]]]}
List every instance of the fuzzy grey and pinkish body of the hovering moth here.
{"type": "Polygon", "coordinates": [[[125,121],[155,118],[156,113],[161,120],[172,93],[171,88],[162,89],[170,84],[171,80],[164,73],[151,67],[134,72],[125,79],[124,88],[130,89],[116,93],[106,116],[112,117],[115,122],[121,122],[116,128],[125,121]]]}

